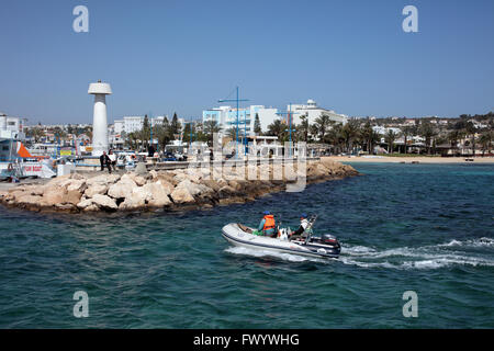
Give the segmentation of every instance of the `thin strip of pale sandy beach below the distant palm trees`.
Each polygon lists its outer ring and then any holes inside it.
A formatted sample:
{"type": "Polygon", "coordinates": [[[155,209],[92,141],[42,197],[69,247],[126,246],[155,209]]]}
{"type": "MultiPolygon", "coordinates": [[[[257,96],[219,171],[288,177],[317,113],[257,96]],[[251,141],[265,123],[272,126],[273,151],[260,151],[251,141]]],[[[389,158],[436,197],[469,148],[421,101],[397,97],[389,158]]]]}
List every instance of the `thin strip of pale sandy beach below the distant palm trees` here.
{"type": "MultiPolygon", "coordinates": [[[[392,156],[326,156],[327,158],[338,162],[372,162],[372,163],[494,163],[494,157],[475,157],[473,161],[465,161],[465,157],[392,157],[392,156]]],[[[472,158],[469,158],[472,159],[472,158]]]]}

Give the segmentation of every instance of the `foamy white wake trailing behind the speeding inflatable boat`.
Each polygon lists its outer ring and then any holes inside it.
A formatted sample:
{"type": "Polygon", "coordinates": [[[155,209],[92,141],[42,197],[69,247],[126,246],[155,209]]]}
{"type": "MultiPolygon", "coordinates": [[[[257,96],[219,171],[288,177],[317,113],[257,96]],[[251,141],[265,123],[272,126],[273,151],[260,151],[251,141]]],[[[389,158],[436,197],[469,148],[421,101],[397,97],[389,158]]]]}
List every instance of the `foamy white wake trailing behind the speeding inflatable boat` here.
{"type": "Polygon", "coordinates": [[[276,258],[290,262],[322,262],[339,261],[344,264],[361,268],[385,268],[396,270],[409,269],[439,269],[452,265],[494,267],[492,259],[494,239],[479,238],[470,240],[451,240],[446,244],[403,247],[377,250],[366,246],[343,245],[339,259],[325,260],[302,257],[292,253],[273,252],[268,250],[250,249],[245,247],[229,247],[225,251],[233,254],[251,257],[276,258]]]}

